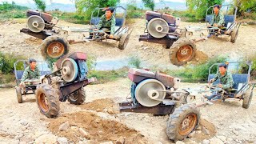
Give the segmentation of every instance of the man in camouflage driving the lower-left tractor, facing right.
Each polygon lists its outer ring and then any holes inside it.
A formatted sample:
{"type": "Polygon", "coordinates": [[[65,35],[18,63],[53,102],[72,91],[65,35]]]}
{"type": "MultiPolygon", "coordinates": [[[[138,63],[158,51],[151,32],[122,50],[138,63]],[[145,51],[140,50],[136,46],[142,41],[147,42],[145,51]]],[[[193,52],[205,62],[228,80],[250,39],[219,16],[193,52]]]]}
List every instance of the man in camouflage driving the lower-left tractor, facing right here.
{"type": "Polygon", "coordinates": [[[30,66],[26,67],[22,75],[20,86],[24,86],[24,82],[30,79],[39,79],[40,71],[37,67],[37,61],[34,58],[30,58],[30,66]]]}

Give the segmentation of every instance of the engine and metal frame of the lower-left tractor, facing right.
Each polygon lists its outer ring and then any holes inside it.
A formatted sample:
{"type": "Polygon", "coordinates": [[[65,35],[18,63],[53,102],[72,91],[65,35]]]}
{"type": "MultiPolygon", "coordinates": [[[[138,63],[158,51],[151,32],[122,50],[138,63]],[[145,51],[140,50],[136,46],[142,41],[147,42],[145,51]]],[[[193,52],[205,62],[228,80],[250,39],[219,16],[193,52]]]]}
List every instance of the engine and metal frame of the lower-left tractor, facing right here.
{"type": "Polygon", "coordinates": [[[81,52],[58,59],[54,63],[54,73],[45,76],[42,83],[53,86],[59,100],[65,102],[74,92],[83,89],[83,86],[97,81],[96,78],[87,78],[86,59],[86,54],[81,52]]]}

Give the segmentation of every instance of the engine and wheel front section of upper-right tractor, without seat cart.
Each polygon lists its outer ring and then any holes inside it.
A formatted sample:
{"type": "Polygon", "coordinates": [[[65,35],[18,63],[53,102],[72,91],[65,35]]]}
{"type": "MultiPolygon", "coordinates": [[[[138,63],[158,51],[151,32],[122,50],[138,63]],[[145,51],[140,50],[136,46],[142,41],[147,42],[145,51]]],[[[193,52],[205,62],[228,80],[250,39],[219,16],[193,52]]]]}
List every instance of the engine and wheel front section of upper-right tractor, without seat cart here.
{"type": "Polygon", "coordinates": [[[190,62],[196,51],[195,42],[189,37],[192,33],[179,28],[181,19],[170,14],[146,11],[145,34],[139,41],[159,43],[170,48],[170,61],[177,66],[190,62]]]}

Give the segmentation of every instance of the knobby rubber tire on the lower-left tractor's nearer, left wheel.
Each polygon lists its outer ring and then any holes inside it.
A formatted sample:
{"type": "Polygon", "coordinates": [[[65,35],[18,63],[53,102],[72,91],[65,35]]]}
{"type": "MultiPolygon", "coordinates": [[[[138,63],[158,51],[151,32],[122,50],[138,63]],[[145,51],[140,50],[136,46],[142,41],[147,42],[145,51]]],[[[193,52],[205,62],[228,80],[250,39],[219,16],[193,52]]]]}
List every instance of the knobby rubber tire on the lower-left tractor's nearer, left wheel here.
{"type": "Polygon", "coordinates": [[[46,84],[39,85],[38,89],[35,91],[35,98],[40,112],[46,115],[47,118],[55,118],[58,116],[58,112],[60,110],[60,102],[58,99],[58,94],[52,86],[46,84]],[[38,103],[38,96],[42,93],[46,95],[46,98],[49,101],[49,107],[47,111],[42,110],[38,103]]]}

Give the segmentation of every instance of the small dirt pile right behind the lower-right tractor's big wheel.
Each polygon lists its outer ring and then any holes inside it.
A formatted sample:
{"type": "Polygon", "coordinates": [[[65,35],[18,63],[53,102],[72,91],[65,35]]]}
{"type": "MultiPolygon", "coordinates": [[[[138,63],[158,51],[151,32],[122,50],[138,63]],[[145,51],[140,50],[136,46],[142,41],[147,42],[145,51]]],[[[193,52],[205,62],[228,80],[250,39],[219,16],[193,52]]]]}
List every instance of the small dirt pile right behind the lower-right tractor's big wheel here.
{"type": "Polygon", "coordinates": [[[216,129],[213,123],[208,122],[206,119],[201,118],[198,129],[195,130],[194,139],[197,142],[202,142],[204,139],[213,138],[216,134],[216,129]]]}

